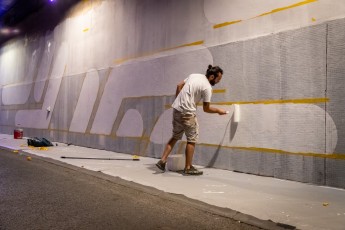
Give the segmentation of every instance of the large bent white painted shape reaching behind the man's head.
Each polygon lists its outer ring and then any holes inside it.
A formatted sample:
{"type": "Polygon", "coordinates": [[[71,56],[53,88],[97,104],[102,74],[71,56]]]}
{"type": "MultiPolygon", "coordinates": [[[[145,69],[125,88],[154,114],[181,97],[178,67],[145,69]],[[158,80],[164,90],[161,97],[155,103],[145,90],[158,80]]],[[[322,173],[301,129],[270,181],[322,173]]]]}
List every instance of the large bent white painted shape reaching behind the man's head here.
{"type": "Polygon", "coordinates": [[[183,75],[182,71],[187,73],[193,73],[193,70],[201,71],[210,61],[212,61],[210,52],[207,49],[201,49],[193,53],[181,54],[178,57],[137,61],[112,69],[91,133],[111,133],[112,126],[109,124],[114,123],[124,98],[174,94],[177,82],[187,77],[183,75]],[[155,90],[152,91],[152,89],[155,90]],[[116,92],[116,96],[114,92],[116,92]]]}

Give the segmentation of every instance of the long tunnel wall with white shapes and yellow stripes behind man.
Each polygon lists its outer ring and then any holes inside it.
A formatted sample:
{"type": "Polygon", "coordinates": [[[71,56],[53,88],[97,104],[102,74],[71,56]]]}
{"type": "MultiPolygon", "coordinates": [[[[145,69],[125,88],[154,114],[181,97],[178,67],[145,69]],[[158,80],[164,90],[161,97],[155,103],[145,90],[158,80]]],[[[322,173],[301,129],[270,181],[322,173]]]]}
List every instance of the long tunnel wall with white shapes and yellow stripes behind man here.
{"type": "MultiPolygon", "coordinates": [[[[0,53],[0,132],[159,158],[176,84],[224,70],[198,165],[345,188],[345,3],[83,1],[0,53]]],[[[175,154],[183,154],[185,139],[175,154]]]]}

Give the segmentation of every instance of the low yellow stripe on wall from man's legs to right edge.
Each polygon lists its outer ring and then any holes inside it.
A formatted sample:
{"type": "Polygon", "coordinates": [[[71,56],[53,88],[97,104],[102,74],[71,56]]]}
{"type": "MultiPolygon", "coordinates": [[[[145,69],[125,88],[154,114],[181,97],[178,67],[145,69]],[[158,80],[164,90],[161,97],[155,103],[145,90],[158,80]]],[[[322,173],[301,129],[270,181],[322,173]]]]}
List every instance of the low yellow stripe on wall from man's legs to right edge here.
{"type": "Polygon", "coordinates": [[[258,148],[258,147],[240,147],[240,146],[219,146],[219,145],[205,144],[205,143],[200,143],[199,145],[217,147],[217,148],[220,147],[220,148],[227,148],[227,149],[238,149],[238,150],[253,151],[253,152],[265,152],[265,153],[298,155],[298,156],[305,156],[305,157],[318,157],[318,158],[345,160],[345,154],[336,154],[336,153],[324,154],[324,153],[307,153],[307,152],[289,152],[289,151],[284,151],[284,150],[280,150],[280,149],[258,148]]]}

